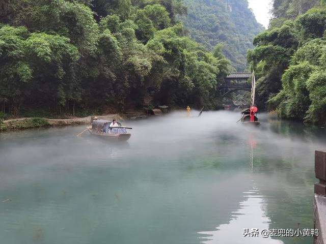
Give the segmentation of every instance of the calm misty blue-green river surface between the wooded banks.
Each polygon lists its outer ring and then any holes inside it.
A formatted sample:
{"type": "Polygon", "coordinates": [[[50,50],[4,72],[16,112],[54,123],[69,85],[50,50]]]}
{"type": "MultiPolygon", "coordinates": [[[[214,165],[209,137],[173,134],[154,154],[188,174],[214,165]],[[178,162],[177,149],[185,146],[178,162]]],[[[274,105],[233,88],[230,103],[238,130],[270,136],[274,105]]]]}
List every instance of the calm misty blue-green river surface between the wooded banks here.
{"type": "Polygon", "coordinates": [[[238,116],[125,121],[123,144],[85,126],[0,134],[1,243],[312,243],[242,232],[313,228],[324,129],[238,116]]]}

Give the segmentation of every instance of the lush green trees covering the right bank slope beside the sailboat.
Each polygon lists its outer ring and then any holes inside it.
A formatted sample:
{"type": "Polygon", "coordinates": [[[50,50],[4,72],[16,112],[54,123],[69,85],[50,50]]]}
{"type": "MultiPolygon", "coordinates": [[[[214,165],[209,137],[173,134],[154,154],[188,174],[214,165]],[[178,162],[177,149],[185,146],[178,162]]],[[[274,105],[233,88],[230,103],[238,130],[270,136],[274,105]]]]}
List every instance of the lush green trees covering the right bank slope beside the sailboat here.
{"type": "Polygon", "coordinates": [[[275,0],[273,6],[275,18],[248,52],[259,78],[257,105],[325,124],[326,1],[275,0]]]}

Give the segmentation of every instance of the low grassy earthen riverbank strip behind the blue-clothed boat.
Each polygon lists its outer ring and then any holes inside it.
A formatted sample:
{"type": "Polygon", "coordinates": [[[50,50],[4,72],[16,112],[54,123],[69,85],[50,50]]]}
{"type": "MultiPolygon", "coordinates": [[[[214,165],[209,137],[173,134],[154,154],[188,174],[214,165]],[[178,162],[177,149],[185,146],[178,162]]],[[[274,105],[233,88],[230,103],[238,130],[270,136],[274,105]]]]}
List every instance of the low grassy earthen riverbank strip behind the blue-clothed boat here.
{"type": "MultiPolygon", "coordinates": [[[[112,120],[116,118],[123,121],[127,117],[121,114],[106,114],[106,115],[96,115],[100,119],[112,120]]],[[[16,118],[8,119],[0,122],[0,131],[8,130],[20,130],[20,129],[30,129],[46,126],[71,126],[71,125],[89,125],[91,124],[91,119],[94,116],[87,116],[83,118],[67,118],[67,119],[56,119],[56,118],[16,118]]]]}

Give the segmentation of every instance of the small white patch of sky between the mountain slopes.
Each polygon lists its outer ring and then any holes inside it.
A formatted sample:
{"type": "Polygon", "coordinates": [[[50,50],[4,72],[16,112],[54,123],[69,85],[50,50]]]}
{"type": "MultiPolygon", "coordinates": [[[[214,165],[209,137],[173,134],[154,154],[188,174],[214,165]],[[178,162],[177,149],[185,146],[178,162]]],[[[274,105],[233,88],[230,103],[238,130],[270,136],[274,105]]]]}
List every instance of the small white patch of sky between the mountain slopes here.
{"type": "Polygon", "coordinates": [[[248,0],[249,8],[251,8],[259,23],[267,29],[270,19],[269,10],[271,9],[272,0],[248,0]]]}

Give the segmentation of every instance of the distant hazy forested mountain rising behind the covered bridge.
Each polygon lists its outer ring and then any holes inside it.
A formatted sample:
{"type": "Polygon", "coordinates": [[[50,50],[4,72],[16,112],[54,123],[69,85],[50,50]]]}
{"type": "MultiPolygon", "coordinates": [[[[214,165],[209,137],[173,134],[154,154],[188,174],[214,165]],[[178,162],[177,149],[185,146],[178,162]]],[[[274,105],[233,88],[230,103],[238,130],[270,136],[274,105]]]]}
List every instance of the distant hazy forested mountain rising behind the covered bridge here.
{"type": "Polygon", "coordinates": [[[246,69],[247,50],[254,36],[264,28],[259,24],[247,0],[185,0],[187,15],[181,20],[195,41],[211,50],[223,43],[223,53],[237,71],[246,69]]]}

